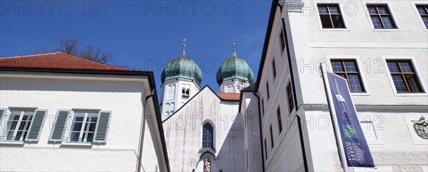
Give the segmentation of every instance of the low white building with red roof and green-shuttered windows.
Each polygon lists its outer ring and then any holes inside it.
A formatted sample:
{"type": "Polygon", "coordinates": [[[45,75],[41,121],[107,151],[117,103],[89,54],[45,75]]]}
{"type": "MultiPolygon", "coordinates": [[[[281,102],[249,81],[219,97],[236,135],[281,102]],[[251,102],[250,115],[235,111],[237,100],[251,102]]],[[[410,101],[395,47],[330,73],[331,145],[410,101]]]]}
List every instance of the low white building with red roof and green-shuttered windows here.
{"type": "Polygon", "coordinates": [[[0,171],[136,171],[140,155],[141,171],[169,171],[157,98],[149,96],[153,72],[88,64],[64,53],[1,58],[0,64],[0,171]],[[38,59],[45,66],[36,68],[38,59]]]}

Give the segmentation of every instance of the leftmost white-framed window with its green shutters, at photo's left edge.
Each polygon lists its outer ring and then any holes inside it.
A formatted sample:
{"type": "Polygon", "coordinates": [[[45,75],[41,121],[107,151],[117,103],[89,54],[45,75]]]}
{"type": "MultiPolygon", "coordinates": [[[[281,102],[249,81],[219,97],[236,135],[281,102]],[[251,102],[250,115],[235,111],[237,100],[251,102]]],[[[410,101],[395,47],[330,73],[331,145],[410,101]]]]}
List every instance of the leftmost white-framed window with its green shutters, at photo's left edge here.
{"type": "Polygon", "coordinates": [[[39,141],[46,109],[0,109],[0,141],[39,141]]]}

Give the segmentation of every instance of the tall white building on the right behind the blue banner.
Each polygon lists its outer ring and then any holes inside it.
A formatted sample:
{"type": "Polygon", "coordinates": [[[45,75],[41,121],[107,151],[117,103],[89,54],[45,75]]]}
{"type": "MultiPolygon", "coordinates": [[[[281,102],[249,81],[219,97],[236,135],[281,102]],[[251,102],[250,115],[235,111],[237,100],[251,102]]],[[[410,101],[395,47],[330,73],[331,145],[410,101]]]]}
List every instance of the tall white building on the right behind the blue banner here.
{"type": "MultiPolygon", "coordinates": [[[[350,169],[427,171],[428,140],[414,129],[428,115],[426,14],[427,1],[273,1],[257,85],[240,104],[245,122],[260,119],[262,141],[252,144],[263,145],[263,160],[255,150],[249,165],[342,171],[320,75],[326,63],[347,78],[377,165],[350,169]],[[248,105],[255,100],[259,114],[248,105]]],[[[246,128],[246,148],[258,132],[246,128]]]]}

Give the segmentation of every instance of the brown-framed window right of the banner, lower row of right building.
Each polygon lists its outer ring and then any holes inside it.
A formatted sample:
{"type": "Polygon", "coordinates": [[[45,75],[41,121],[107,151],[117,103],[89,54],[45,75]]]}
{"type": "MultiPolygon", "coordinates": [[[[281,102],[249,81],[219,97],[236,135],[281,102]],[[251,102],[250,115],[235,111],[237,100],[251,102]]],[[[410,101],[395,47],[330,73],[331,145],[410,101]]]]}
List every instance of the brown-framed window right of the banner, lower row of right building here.
{"type": "Polygon", "coordinates": [[[397,92],[423,92],[410,60],[387,60],[397,92]]]}

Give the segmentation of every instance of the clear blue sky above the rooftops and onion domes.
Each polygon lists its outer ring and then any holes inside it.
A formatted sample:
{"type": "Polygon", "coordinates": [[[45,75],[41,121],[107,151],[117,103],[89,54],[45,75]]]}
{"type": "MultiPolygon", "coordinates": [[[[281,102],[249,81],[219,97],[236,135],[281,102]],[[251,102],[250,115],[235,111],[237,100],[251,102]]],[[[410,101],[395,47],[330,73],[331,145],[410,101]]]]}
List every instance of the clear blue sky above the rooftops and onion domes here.
{"type": "Polygon", "coordinates": [[[41,53],[60,38],[78,40],[115,56],[111,65],[161,72],[186,55],[203,72],[202,87],[219,91],[215,73],[232,54],[247,60],[255,75],[263,50],[271,1],[0,1],[0,57],[41,53]]]}

